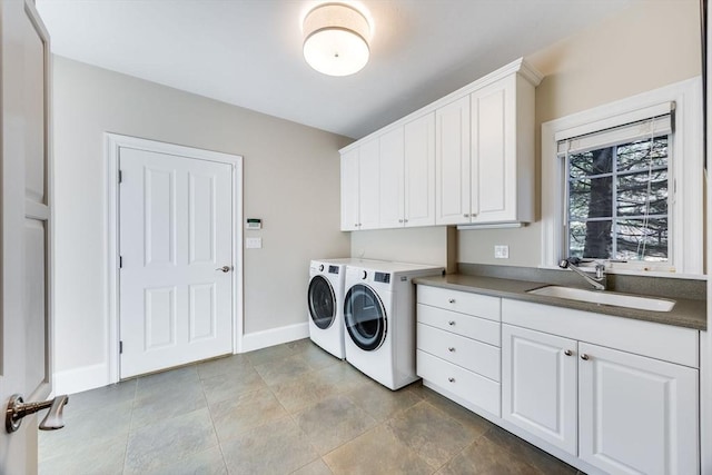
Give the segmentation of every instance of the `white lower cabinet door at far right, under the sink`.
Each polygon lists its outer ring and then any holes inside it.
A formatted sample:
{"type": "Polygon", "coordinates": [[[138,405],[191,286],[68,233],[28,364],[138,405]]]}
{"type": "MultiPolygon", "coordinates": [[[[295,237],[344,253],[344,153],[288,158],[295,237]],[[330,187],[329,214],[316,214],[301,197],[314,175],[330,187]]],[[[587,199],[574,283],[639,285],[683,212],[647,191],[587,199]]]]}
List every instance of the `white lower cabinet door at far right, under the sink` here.
{"type": "Polygon", "coordinates": [[[699,473],[698,370],[591,344],[578,350],[578,456],[611,474],[699,473]]]}

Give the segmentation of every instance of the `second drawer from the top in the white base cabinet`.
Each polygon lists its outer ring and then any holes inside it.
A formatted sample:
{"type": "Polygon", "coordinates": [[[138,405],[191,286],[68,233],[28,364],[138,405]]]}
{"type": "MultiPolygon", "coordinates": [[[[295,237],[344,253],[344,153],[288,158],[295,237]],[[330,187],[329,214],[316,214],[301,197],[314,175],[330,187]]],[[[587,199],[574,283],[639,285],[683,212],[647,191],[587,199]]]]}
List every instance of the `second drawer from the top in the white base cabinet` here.
{"type": "Polygon", "coordinates": [[[417,305],[417,318],[422,324],[493,346],[501,346],[501,325],[498,323],[423,304],[417,305]]]}

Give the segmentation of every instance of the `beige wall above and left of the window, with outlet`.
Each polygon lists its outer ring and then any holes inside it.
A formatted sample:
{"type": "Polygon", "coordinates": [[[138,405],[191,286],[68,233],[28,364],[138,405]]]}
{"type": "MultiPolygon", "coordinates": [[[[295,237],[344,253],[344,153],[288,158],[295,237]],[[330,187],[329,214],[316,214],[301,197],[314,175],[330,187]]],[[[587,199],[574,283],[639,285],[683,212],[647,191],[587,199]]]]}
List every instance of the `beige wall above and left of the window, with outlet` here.
{"type": "MultiPolygon", "coordinates": [[[[537,210],[542,122],[699,76],[700,44],[699,1],[646,1],[527,56],[545,76],[536,88],[537,210]]],[[[459,231],[457,256],[462,263],[536,267],[541,228],[459,231]],[[495,245],[508,245],[510,259],[495,259],[495,245]]]]}

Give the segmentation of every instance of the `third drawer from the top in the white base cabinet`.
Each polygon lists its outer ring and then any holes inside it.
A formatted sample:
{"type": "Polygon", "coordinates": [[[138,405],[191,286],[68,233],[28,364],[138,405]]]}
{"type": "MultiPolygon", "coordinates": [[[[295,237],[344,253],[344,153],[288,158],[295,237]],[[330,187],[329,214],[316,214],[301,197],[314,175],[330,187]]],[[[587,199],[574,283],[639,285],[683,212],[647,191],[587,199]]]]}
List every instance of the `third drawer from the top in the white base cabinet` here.
{"type": "Polygon", "coordinates": [[[417,325],[417,347],[465,369],[500,382],[500,348],[427,325],[417,325]]]}

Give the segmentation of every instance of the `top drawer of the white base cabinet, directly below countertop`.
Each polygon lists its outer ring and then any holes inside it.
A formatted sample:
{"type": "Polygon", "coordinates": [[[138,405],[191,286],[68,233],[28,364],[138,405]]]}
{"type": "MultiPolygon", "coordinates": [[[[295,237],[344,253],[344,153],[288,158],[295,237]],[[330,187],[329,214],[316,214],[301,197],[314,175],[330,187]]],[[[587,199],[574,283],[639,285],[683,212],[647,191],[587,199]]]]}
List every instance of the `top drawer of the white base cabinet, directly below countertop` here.
{"type": "Polygon", "coordinates": [[[424,285],[418,286],[417,294],[418,304],[474,315],[490,320],[501,320],[501,298],[498,297],[424,285]]]}

